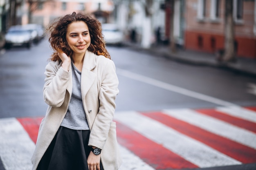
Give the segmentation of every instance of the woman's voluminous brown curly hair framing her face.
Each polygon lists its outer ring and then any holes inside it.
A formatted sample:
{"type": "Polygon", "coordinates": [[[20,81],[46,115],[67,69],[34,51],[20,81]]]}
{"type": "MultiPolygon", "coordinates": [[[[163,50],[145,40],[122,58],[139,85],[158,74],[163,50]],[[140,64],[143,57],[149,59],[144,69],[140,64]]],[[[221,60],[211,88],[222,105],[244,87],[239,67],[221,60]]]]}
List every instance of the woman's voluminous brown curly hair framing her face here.
{"type": "Polygon", "coordinates": [[[96,55],[104,55],[106,58],[110,59],[110,54],[106,49],[106,44],[102,35],[101,23],[90,14],[73,12],[72,14],[57,18],[47,29],[47,31],[50,32],[49,42],[54,50],[50,60],[61,60],[58,56],[58,52],[64,52],[67,56],[72,56],[73,52],[66,41],[66,33],[68,25],[75,21],[84,21],[88,25],[91,37],[91,44],[88,47],[88,50],[96,55]]]}

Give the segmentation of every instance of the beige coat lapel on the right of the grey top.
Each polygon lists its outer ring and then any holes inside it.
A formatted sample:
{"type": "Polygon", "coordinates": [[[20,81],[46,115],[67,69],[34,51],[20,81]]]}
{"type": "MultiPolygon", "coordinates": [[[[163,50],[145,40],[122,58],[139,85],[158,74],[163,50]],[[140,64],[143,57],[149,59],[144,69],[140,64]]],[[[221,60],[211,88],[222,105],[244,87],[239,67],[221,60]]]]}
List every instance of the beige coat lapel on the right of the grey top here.
{"type": "Polygon", "coordinates": [[[85,95],[88,93],[90,87],[92,86],[96,74],[92,70],[96,66],[95,55],[90,51],[85,52],[85,57],[83,59],[83,68],[81,73],[81,93],[82,99],[85,98],[85,95]]]}

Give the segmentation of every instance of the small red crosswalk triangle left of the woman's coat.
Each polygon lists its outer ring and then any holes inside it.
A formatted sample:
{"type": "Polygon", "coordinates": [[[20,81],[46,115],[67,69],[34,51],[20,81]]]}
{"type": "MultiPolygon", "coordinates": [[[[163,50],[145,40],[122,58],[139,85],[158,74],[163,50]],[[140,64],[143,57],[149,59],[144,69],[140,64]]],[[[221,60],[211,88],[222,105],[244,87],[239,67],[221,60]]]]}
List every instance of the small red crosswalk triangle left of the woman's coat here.
{"type": "Polygon", "coordinates": [[[36,118],[17,118],[23,128],[29,134],[29,137],[36,143],[37,135],[41,120],[43,117],[36,117],[36,118]]]}

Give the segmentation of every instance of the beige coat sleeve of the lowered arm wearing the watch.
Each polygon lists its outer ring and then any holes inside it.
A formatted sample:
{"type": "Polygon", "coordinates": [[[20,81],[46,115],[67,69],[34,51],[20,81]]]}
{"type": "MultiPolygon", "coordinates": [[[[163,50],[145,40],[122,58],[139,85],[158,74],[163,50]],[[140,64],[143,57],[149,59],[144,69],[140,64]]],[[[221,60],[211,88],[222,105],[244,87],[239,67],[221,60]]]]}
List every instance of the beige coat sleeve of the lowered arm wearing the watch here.
{"type": "Polygon", "coordinates": [[[102,82],[99,90],[99,113],[94,119],[90,132],[89,146],[103,149],[108,138],[108,132],[115,113],[115,99],[118,90],[118,78],[115,64],[107,59],[107,64],[102,74],[102,82]]]}

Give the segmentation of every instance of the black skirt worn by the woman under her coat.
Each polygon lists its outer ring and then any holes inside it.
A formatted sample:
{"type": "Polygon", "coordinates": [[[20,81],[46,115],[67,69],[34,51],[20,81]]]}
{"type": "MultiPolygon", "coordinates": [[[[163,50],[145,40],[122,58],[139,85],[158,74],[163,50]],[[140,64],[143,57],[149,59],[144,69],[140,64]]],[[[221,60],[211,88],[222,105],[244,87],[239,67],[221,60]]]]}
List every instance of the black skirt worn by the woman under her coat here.
{"type": "MultiPolygon", "coordinates": [[[[88,170],[90,130],[72,130],[60,126],[40,160],[37,170],[88,170]]],[[[102,164],[100,168],[103,170],[102,164]]]]}

